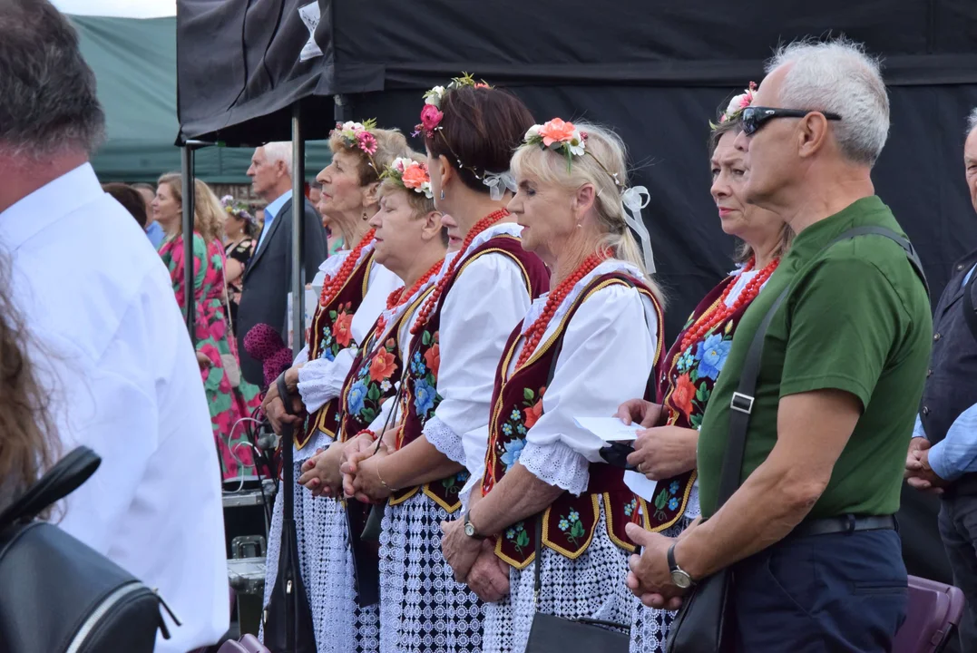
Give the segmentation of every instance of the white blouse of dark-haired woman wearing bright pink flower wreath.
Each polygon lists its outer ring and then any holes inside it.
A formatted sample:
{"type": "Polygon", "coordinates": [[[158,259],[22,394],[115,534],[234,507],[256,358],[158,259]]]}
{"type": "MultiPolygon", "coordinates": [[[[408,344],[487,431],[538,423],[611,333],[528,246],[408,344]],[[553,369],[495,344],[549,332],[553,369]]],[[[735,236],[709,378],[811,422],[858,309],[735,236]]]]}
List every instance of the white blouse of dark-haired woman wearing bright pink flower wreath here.
{"type": "MultiPolygon", "coordinates": [[[[519,236],[522,227],[503,223],[476,236],[461,256],[489,238],[519,236]]],[[[462,434],[488,425],[502,349],[520,318],[531,306],[522,267],[501,254],[479,257],[458,275],[441,312],[441,368],[438,393],[442,401],[424,426],[424,436],[456,463],[468,456],[462,434]]],[[[483,443],[483,449],[485,444],[483,443]]]]}

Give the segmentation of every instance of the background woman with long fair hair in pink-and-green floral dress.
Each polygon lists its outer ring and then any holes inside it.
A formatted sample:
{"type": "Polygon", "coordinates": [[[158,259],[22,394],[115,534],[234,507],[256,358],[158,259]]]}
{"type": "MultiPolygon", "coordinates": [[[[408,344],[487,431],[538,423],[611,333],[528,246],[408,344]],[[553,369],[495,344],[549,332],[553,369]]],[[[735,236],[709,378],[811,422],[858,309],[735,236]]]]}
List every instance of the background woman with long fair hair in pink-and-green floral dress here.
{"type": "MultiPolygon", "coordinates": [[[[186,315],[182,188],[179,174],[163,175],[152,201],[152,211],[167,234],[159,256],[170,270],[177,304],[186,315]]],[[[221,453],[221,473],[225,480],[230,480],[255,474],[246,424],[240,420],[251,417],[252,411],[261,405],[261,397],[258,388],[240,375],[237,347],[228,328],[224,246],[218,235],[223,228],[224,212],[207,184],[196,180],[194,195],[193,336],[214,440],[221,453]]]]}

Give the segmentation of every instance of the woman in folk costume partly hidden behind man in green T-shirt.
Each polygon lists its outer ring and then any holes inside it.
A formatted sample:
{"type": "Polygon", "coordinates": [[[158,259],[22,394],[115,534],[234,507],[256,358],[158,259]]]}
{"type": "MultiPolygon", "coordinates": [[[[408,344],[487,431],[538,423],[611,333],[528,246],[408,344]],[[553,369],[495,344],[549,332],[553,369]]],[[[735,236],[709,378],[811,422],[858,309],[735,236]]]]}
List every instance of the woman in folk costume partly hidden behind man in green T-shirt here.
{"type": "MultiPolygon", "coordinates": [[[[628,463],[659,481],[654,505],[650,507],[652,514],[659,506],[684,504],[684,513],[680,513],[682,517],[674,526],[667,522],[646,523],[649,530],[671,526],[666,532],[670,536],[677,535],[700,515],[698,488],[681,481],[686,476],[695,478],[698,429],[705,406],[743,312],[777,269],[793,237],[790,227],[777,214],[743,200],[749,171],[744,153],[733,142],[742,130],[740,113],[752,101],[752,88],[751,85],[724,107],[709,136],[711,193],[720,225],[743,243],[736,257],[737,269],[696,306],[662,359],[656,380],[660,405],[633,399],[621,405],[617,413],[628,424],[634,421],[652,427],[639,432],[628,463]],[[669,478],[673,480],[665,482],[669,478]]],[[[671,619],[672,613],[647,608],[639,602],[631,629],[632,652],[663,650],[671,619]]]]}

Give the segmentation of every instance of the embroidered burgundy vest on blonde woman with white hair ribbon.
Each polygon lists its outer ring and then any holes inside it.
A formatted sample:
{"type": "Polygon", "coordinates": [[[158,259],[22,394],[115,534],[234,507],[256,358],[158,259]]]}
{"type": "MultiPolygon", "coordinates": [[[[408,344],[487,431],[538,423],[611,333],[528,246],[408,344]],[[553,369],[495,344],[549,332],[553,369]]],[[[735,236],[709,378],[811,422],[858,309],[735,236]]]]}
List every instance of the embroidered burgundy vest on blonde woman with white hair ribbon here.
{"type": "MultiPolygon", "coordinates": [[[[543,395],[552,381],[567,326],[576,310],[595,292],[613,284],[636,287],[652,301],[658,315],[658,324],[662,324],[661,308],[648,286],[625,274],[601,274],[594,277],[577,296],[556,331],[532,354],[529,362],[506,378],[509,364],[516,354],[516,346],[522,338],[523,324],[520,322],[509,337],[495,375],[492,411],[488,423],[486,473],[482,479],[483,496],[516,465],[519,454],[526,445],[527,432],[543,415],[543,395]]],[[[661,355],[661,348],[662,335],[659,326],[656,362],[661,355]]],[[[600,521],[602,505],[612,542],[621,549],[634,551],[634,545],[624,533],[624,525],[629,521],[638,523],[639,508],[647,514],[648,506],[624,484],[623,469],[603,463],[590,465],[590,482],[581,496],[575,497],[570,492],[564,492],[543,512],[542,544],[576,559],[590,546],[600,521]]],[[[681,512],[669,510],[667,505],[659,512],[661,514],[656,513],[654,516],[662,522],[674,521],[681,515],[681,512]]],[[[529,565],[535,557],[533,518],[509,526],[498,538],[495,554],[517,569],[529,565]]]]}

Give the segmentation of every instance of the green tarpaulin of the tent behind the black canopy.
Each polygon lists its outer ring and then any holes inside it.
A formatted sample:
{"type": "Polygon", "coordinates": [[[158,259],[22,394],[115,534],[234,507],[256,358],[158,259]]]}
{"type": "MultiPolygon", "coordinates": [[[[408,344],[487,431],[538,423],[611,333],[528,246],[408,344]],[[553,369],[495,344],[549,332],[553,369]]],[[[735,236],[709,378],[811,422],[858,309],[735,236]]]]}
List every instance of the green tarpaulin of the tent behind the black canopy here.
{"type": "MultiPolygon", "coordinates": [[[[72,16],[85,61],[95,70],[106,109],[108,139],[92,160],[103,182],[155,182],[180,170],[176,141],[176,19],[72,16]]],[[[200,61],[206,66],[206,61],[200,61]]],[[[331,120],[331,116],[328,116],[331,120]]],[[[251,149],[206,147],[196,176],[213,184],[247,184],[251,149]]],[[[306,177],[329,162],[325,143],[307,143],[306,177]]]]}

